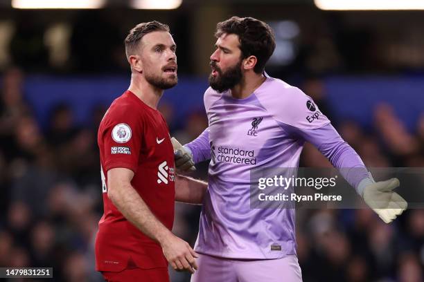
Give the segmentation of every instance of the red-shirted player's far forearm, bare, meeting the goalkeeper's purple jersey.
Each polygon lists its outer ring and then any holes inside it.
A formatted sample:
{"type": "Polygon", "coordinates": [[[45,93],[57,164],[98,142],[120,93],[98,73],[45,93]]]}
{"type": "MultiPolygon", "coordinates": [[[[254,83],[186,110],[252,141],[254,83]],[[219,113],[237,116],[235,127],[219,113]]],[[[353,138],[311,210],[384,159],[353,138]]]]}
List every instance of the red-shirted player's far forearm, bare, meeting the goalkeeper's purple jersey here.
{"type": "Polygon", "coordinates": [[[177,202],[202,205],[208,184],[187,176],[175,178],[175,200],[177,202]]]}

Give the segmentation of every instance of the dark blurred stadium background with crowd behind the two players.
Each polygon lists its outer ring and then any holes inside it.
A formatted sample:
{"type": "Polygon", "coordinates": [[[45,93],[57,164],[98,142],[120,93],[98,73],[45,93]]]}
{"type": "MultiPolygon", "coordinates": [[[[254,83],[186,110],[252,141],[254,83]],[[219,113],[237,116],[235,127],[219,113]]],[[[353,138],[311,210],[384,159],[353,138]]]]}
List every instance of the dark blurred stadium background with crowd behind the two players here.
{"type": "MultiPolygon", "coordinates": [[[[202,97],[215,24],[251,16],[276,31],[267,73],[310,95],[367,166],[424,167],[423,11],[323,11],[309,0],[184,0],[174,10],[130,3],[22,10],[0,1],[1,267],[53,266],[55,281],[101,281],[96,132],[129,85],[123,39],[142,21],[168,23],[178,46],[179,84],[160,111],[182,143],[207,126],[202,97]]],[[[329,165],[306,145],[301,166],[329,165]]],[[[206,179],[206,168],[195,176],[206,179]]],[[[191,245],[199,213],[177,204],[174,232],[191,245]]],[[[306,282],[424,280],[422,209],[391,225],[370,209],[303,210],[297,243],[306,282]]]]}

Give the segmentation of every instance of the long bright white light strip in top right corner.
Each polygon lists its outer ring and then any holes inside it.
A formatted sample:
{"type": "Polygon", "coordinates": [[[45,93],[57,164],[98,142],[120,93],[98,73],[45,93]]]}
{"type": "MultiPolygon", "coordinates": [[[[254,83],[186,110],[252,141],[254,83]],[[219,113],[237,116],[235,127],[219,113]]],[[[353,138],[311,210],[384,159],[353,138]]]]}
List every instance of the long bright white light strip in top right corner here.
{"type": "Polygon", "coordinates": [[[422,0],[314,0],[321,10],[424,10],[422,0]]]}

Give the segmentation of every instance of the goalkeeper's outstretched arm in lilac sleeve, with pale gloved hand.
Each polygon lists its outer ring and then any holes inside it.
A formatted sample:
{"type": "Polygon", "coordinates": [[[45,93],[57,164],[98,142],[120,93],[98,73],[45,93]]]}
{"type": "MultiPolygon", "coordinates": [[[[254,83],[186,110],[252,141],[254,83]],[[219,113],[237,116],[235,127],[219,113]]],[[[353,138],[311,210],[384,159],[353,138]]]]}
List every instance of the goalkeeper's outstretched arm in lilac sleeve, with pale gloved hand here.
{"type": "Polygon", "coordinates": [[[406,201],[392,191],[398,186],[398,180],[374,182],[364,162],[344,142],[311,97],[288,84],[281,84],[281,92],[284,95],[263,97],[260,104],[272,113],[284,131],[314,144],[385,223],[406,209],[406,201]]]}

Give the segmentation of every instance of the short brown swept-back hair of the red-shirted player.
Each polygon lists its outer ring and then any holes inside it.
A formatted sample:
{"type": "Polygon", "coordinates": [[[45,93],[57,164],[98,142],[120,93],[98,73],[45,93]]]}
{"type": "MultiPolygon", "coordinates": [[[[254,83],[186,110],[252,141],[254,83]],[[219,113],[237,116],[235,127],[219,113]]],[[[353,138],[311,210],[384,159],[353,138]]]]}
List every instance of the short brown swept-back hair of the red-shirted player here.
{"type": "Polygon", "coordinates": [[[134,54],[134,50],[139,46],[139,41],[144,35],[154,31],[169,32],[169,26],[159,21],[149,21],[148,23],[137,24],[125,38],[125,55],[127,58],[134,54]]]}

